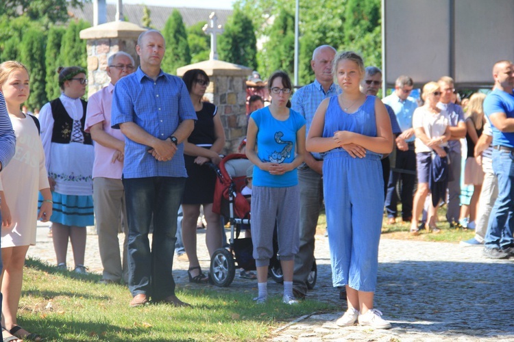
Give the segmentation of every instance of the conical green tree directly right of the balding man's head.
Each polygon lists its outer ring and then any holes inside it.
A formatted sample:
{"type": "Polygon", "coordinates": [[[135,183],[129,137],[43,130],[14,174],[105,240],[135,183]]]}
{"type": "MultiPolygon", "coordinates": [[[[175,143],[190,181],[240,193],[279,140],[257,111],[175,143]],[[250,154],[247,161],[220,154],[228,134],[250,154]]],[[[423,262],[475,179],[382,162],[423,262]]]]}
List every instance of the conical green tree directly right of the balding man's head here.
{"type": "Polygon", "coordinates": [[[166,40],[166,53],[162,60],[162,70],[176,75],[177,68],[191,63],[186,27],[182,21],[182,14],[173,10],[162,30],[166,40]]]}

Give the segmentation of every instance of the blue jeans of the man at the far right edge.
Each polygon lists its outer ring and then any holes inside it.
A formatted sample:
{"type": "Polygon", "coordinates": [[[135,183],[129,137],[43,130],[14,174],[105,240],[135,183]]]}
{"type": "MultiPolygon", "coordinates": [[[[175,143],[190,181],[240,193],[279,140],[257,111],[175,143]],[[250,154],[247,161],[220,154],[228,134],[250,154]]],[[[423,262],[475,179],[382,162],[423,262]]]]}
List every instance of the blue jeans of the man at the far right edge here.
{"type": "Polygon", "coordinates": [[[493,171],[498,176],[498,198],[489,216],[485,246],[507,248],[514,246],[514,154],[493,150],[493,171]]]}

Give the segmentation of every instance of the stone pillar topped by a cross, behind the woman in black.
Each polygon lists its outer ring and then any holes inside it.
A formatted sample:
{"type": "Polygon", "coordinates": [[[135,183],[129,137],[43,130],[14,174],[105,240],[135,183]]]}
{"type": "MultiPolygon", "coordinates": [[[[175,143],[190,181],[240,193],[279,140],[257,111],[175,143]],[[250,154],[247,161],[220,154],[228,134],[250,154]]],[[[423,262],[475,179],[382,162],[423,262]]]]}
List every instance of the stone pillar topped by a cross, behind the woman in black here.
{"type": "Polygon", "coordinates": [[[218,107],[221,123],[225,129],[225,154],[236,153],[238,144],[246,135],[246,79],[252,69],[245,66],[208,60],[177,69],[182,77],[187,70],[201,69],[210,79],[205,96],[218,107]]]}

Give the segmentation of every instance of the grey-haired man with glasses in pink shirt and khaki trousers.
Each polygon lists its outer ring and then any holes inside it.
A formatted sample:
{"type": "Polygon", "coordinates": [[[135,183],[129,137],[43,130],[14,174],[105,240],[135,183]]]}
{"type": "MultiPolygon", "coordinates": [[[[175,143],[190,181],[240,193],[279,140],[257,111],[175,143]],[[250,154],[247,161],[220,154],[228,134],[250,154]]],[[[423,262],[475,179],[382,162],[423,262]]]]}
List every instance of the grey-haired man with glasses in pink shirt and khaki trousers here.
{"type": "Polygon", "coordinates": [[[95,209],[98,246],[103,265],[102,284],[128,283],[127,222],[123,224],[123,261],[120,257],[118,232],[121,218],[126,220],[125,190],[121,183],[125,137],[119,129],[111,128],[111,105],[114,85],[135,70],[134,59],[120,51],[108,59],[106,88],[91,95],[86,112],[85,131],[95,141],[93,164],[93,203],[95,209]]]}

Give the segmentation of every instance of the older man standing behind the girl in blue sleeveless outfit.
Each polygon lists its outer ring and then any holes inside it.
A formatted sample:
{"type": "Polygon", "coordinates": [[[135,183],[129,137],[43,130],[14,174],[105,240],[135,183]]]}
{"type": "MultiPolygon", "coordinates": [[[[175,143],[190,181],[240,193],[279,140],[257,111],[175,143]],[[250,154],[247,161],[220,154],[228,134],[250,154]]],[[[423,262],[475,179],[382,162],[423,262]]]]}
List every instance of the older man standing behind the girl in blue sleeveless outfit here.
{"type": "MultiPolygon", "coordinates": [[[[341,93],[339,86],[334,84],[332,76],[332,61],[335,55],[336,49],[329,45],[317,47],[313,53],[313,60],[310,61],[316,79],[313,83],[297,90],[291,99],[291,109],[305,118],[306,136],[321,101],[341,93]]],[[[314,263],[314,235],[319,210],[323,203],[322,166],[323,161],[319,153],[306,153],[304,163],[298,167],[300,245],[298,253],[295,255],[293,275],[293,293],[298,299],[305,298],[307,294],[307,278],[314,263]]]]}

